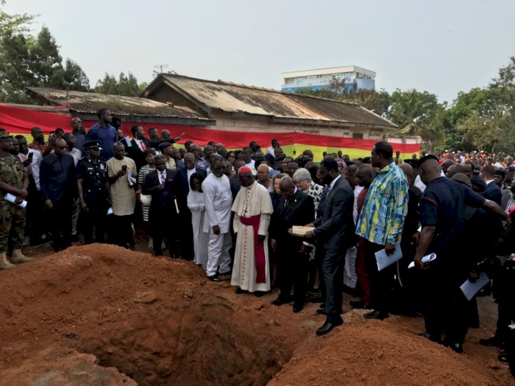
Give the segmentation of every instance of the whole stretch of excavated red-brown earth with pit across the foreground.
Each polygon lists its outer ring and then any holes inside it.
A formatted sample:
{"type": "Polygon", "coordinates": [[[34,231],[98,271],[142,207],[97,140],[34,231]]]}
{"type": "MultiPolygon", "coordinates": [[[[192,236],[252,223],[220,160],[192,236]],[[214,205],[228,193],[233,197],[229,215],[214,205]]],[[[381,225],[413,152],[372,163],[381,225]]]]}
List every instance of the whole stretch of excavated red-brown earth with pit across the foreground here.
{"type": "Polygon", "coordinates": [[[459,356],[417,337],[411,319],[365,323],[353,311],[320,338],[314,304],[293,314],[271,306],[275,293],[233,290],[228,278],[209,282],[190,262],[108,245],[0,271],[0,384],[512,382],[507,368],[492,370],[484,356],[459,356]]]}

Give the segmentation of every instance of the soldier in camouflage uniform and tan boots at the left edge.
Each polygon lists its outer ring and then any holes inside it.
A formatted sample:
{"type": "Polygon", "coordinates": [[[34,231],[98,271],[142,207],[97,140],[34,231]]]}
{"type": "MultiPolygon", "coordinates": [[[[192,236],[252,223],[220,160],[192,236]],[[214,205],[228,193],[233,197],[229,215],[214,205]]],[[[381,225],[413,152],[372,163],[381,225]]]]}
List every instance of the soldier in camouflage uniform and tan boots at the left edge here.
{"type": "Polygon", "coordinates": [[[12,135],[0,133],[0,269],[10,269],[13,263],[28,262],[21,253],[25,209],[19,206],[27,197],[29,179],[20,159],[12,154],[12,135]],[[6,194],[15,196],[14,203],[5,200],[6,194]],[[7,258],[8,243],[13,247],[11,262],[7,258]]]}

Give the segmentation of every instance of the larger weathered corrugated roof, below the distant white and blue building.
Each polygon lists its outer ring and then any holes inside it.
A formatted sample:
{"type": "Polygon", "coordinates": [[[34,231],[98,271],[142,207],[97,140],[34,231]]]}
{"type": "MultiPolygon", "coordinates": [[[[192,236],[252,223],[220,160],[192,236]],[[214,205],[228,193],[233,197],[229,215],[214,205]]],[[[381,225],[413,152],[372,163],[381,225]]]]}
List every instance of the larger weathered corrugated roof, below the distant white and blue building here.
{"type": "Polygon", "coordinates": [[[160,82],[165,82],[172,89],[180,89],[211,109],[220,109],[229,113],[267,115],[286,120],[317,120],[397,128],[392,122],[362,106],[347,102],[171,73],[160,74],[147,90],[152,92],[160,82]]]}

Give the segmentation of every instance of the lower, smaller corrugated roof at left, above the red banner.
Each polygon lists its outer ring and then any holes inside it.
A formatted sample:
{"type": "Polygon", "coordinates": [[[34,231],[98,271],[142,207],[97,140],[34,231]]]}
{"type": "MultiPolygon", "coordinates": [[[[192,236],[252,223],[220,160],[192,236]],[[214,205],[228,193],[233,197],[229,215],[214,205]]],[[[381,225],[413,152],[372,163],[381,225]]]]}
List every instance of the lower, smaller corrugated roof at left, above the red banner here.
{"type": "Polygon", "coordinates": [[[81,91],[66,91],[47,89],[45,87],[27,87],[27,90],[50,104],[67,106],[78,113],[93,113],[106,108],[113,115],[136,115],[139,117],[192,118],[209,120],[193,111],[186,111],[168,104],[148,98],[108,95],[100,93],[84,93],[81,91]]]}

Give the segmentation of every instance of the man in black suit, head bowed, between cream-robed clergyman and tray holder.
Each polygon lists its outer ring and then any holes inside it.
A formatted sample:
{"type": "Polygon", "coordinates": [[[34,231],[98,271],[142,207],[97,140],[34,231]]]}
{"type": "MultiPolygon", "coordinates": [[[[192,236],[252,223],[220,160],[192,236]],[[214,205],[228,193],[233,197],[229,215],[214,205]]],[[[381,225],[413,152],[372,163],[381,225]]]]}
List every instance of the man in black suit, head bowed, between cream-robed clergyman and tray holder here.
{"type": "Polygon", "coordinates": [[[282,177],[279,188],[282,198],[273,223],[268,230],[271,247],[277,256],[277,277],[281,293],[272,304],[280,306],[290,302],[293,285],[293,312],[299,313],[304,308],[306,297],[306,277],[308,277],[308,252],[302,238],[291,236],[288,229],[294,225],[306,225],[314,220],[313,198],[301,192],[290,177],[282,177]]]}

